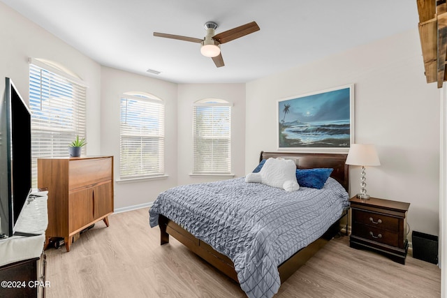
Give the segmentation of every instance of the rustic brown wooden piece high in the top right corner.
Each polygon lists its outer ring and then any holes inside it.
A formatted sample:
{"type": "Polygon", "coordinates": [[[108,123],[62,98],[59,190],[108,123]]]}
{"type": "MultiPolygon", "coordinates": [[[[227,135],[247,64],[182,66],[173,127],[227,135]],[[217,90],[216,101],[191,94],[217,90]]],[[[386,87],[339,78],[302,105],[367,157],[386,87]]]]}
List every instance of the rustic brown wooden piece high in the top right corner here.
{"type": "Polygon", "coordinates": [[[417,0],[419,36],[427,83],[442,88],[447,80],[447,3],[444,0],[417,0]]]}

